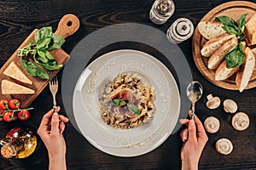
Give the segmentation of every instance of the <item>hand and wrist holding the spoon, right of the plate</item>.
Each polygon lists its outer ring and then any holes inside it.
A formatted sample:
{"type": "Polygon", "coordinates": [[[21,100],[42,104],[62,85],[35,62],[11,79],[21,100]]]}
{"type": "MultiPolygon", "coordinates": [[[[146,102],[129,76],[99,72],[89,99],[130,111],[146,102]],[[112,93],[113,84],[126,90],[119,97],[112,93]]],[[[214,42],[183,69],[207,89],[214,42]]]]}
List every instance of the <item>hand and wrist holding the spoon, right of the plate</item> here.
{"type": "Polygon", "coordinates": [[[181,132],[183,140],[182,169],[197,170],[201,152],[207,144],[207,133],[197,116],[194,116],[194,120],[181,119],[180,122],[188,126],[181,132]]]}

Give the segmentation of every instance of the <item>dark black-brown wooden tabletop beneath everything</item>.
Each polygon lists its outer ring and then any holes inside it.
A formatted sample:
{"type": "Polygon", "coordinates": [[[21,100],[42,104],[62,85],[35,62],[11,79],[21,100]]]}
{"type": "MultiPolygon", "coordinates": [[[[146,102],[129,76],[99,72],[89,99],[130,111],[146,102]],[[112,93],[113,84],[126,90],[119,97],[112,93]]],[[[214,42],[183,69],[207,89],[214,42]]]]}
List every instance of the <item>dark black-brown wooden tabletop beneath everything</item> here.
{"type": "MultiPolygon", "coordinates": [[[[0,2],[0,65],[20,46],[20,43],[35,29],[43,26],[57,27],[58,21],[64,14],[76,14],[81,26],[72,37],[67,38],[63,49],[70,54],[76,44],[91,32],[102,27],[119,23],[134,22],[152,26],[166,32],[172,22],[180,17],[192,20],[196,26],[199,20],[209,10],[225,0],[174,0],[176,11],[172,18],[162,26],[156,26],[148,19],[148,12],[153,0],[119,0],[119,1],[1,1],[0,2]]],[[[256,3],[255,0],[251,1],[256,3]]],[[[129,43],[132,47],[132,44],[129,43]]],[[[209,141],[203,150],[199,163],[200,169],[256,169],[256,88],[243,93],[230,91],[214,86],[197,70],[192,56],[192,38],[179,44],[189,62],[193,79],[198,80],[204,87],[204,95],[196,104],[197,115],[201,121],[207,116],[218,116],[221,128],[218,133],[208,134],[209,141]],[[236,100],[239,111],[244,111],[250,117],[251,124],[244,132],[238,132],[230,125],[231,115],[224,113],[222,107],[210,111],[206,107],[207,94],[218,95],[222,101],[230,98],[236,100]],[[218,154],[214,144],[220,138],[228,138],[234,144],[233,152],[228,156],[218,154]]],[[[127,48],[125,45],[115,48],[127,48]]],[[[137,46],[140,48],[140,46],[137,46]]],[[[145,48],[145,47],[142,47],[145,48]]],[[[103,49],[108,52],[111,48],[103,49]]],[[[63,71],[58,74],[61,80],[63,71]]],[[[61,90],[57,94],[57,102],[61,105],[61,114],[67,115],[61,99],[61,90]]],[[[28,126],[37,130],[42,116],[52,107],[49,88],[34,100],[32,117],[27,122],[0,122],[0,138],[3,138],[12,127],[28,126]]],[[[76,131],[72,123],[67,123],[64,137],[67,142],[67,168],[68,169],[180,169],[180,149],[182,141],[179,132],[172,134],[157,149],[143,156],[131,158],[110,156],[97,150],[84,137],[76,131]]],[[[48,155],[44,144],[39,141],[38,149],[25,159],[4,159],[0,157],[0,169],[47,169],[48,155]]]]}

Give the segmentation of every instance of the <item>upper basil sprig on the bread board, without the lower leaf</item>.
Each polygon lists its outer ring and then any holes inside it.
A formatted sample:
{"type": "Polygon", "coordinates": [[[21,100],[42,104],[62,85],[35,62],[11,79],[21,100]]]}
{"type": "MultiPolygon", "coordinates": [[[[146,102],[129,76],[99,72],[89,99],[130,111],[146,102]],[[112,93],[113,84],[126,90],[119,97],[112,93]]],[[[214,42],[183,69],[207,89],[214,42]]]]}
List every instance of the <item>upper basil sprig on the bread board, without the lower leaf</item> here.
{"type": "Polygon", "coordinates": [[[247,14],[241,15],[240,19],[238,20],[238,27],[232,18],[225,15],[216,17],[215,20],[220,21],[223,24],[224,31],[227,31],[230,34],[235,34],[238,40],[242,40],[245,37],[243,31],[246,24],[246,17],[247,14]]]}

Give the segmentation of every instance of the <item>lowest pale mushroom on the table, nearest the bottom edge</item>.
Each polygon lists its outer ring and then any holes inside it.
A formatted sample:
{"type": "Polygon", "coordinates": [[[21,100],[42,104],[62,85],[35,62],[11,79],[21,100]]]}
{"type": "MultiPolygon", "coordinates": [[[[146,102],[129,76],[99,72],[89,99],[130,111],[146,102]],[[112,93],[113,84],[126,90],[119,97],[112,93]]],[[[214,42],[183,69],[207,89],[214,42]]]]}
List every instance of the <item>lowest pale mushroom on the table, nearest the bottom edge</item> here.
{"type": "Polygon", "coordinates": [[[229,155],[233,150],[233,144],[229,139],[218,139],[215,144],[215,148],[218,153],[223,155],[229,155]]]}

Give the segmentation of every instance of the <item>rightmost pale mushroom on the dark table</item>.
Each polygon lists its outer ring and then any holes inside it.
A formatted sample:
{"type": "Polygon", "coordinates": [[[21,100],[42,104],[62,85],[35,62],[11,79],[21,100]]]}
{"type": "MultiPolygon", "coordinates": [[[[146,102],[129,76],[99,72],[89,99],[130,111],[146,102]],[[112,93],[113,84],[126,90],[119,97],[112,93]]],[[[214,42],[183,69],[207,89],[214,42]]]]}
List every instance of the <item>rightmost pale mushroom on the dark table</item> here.
{"type": "Polygon", "coordinates": [[[247,114],[243,112],[236,113],[236,115],[232,118],[232,126],[238,131],[243,131],[247,129],[247,127],[249,127],[249,124],[250,119],[247,114]]]}

